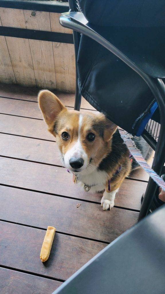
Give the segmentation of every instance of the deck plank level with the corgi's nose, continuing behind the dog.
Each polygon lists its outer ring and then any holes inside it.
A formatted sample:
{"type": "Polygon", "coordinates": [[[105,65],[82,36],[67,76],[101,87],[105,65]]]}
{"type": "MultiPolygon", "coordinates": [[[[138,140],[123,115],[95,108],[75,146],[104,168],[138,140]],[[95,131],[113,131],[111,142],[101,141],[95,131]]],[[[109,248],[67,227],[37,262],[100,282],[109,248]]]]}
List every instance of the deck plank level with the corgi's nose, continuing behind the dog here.
{"type": "MultiPolygon", "coordinates": [[[[24,126],[23,129],[25,129],[24,126]]],[[[54,141],[41,139],[33,141],[33,138],[1,132],[0,141],[0,156],[63,167],[60,164],[58,146],[54,141]]],[[[149,176],[144,170],[139,169],[127,178],[148,182],[149,176]]]]}

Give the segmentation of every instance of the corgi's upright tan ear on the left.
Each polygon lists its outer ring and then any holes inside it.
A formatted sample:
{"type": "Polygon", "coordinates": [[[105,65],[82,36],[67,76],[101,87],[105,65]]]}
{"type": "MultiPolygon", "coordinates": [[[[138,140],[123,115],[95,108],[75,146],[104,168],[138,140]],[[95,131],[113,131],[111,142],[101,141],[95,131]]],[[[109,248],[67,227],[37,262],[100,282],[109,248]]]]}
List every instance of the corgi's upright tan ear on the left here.
{"type": "Polygon", "coordinates": [[[39,92],[38,103],[48,126],[51,126],[60,111],[65,108],[58,97],[48,90],[39,92]]]}

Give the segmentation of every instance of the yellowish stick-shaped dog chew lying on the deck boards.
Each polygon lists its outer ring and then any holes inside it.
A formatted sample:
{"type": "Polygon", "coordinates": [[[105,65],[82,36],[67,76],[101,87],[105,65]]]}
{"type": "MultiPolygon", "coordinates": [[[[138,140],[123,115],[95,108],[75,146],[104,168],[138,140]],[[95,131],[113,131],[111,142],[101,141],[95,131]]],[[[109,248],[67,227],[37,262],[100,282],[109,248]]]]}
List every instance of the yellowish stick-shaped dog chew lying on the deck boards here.
{"type": "Polygon", "coordinates": [[[42,262],[45,262],[49,258],[54,235],[55,235],[55,228],[48,226],[48,228],[46,230],[45,238],[43,240],[41,253],[40,253],[40,258],[41,258],[42,262]]]}

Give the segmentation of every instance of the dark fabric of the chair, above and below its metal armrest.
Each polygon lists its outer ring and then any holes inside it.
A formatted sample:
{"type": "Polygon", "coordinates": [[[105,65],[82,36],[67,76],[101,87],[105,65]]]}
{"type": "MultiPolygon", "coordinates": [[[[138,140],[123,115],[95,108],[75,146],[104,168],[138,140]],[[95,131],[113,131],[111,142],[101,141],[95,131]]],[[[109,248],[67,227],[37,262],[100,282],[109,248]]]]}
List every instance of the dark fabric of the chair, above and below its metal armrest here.
{"type": "MultiPolygon", "coordinates": [[[[90,22],[87,26],[147,75],[165,77],[163,0],[78,0],[78,3],[90,22]]],[[[85,35],[81,35],[77,67],[82,96],[119,127],[140,136],[157,108],[143,78],[85,35]]],[[[155,117],[160,121],[159,111],[155,117]]]]}

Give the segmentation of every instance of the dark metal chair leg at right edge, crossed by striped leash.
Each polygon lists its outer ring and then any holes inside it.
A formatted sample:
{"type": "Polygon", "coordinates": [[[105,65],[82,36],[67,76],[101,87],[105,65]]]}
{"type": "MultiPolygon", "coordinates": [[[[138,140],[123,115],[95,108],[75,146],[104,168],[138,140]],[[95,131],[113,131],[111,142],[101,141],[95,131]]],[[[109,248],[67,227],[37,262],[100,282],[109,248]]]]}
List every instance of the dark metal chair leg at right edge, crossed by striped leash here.
{"type": "MultiPolygon", "coordinates": [[[[161,175],[161,171],[165,161],[165,115],[164,115],[165,86],[160,79],[157,79],[155,81],[155,86],[156,86],[155,88],[157,88],[157,95],[155,96],[157,98],[156,100],[159,105],[161,128],[160,128],[158,142],[156,144],[156,150],[155,150],[152,168],[156,173],[161,175]]],[[[156,183],[151,178],[149,178],[149,182],[147,185],[146,192],[144,194],[144,199],[142,202],[142,207],[139,213],[138,220],[141,220],[144,216],[146,216],[149,213],[149,209],[156,192],[156,187],[157,187],[156,183]]]]}

